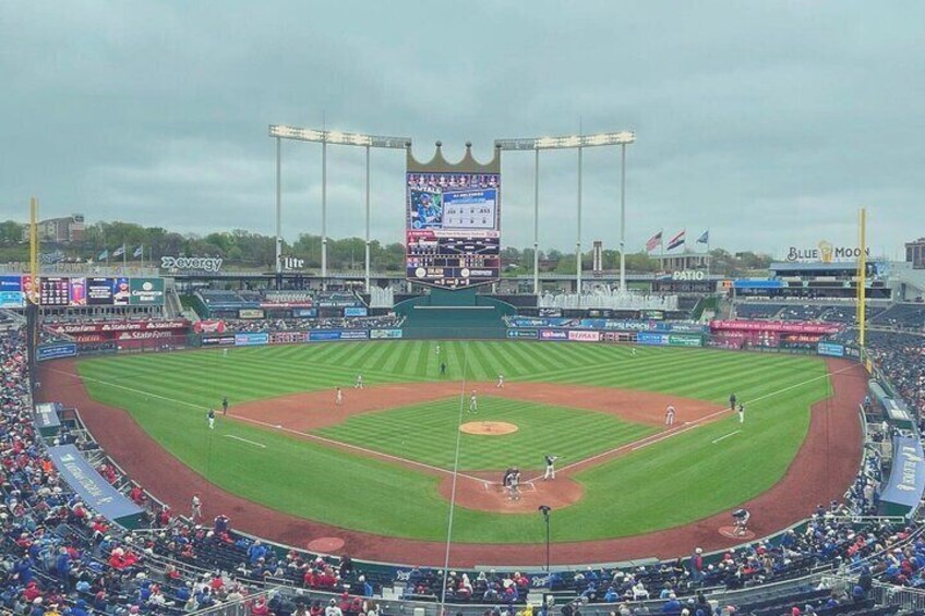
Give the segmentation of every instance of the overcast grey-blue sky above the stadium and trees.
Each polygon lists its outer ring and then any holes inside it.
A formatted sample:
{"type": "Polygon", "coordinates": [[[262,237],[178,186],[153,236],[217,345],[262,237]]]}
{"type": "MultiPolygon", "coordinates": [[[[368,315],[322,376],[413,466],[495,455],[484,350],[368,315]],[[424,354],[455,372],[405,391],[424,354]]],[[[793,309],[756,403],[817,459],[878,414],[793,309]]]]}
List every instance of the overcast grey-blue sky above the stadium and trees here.
{"type": "MultiPolygon", "coordinates": [[[[83,213],[274,232],[269,123],[410,136],[632,129],[627,247],[707,228],[781,256],[893,257],[925,235],[925,3],[0,2],[0,219],[83,213]]],[[[374,152],[373,235],[398,241],[401,152],[374,152]]],[[[532,243],[531,154],[503,161],[503,242],[532,243]]],[[[585,153],[584,238],[618,240],[618,150],[585,153]]],[[[577,154],[544,153],[540,243],[574,250],[577,154]]],[[[362,148],[332,147],[328,233],[363,232],[362,148]]],[[[284,234],[321,228],[321,147],[284,144],[284,234]]],[[[693,247],[693,243],[689,244],[693,247]]]]}

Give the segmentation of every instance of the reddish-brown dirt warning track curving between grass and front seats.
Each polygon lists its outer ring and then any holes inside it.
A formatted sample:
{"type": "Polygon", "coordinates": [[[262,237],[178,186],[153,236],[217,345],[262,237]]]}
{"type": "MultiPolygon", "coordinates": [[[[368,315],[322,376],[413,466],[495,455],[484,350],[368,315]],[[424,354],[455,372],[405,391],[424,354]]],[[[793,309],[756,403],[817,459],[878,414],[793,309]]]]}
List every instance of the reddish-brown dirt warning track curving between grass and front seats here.
{"type": "MultiPolygon", "coordinates": [[[[862,446],[857,404],[864,398],[867,376],[860,365],[845,360],[827,360],[827,365],[834,395],[814,404],[809,431],[790,469],[771,490],[741,504],[752,511],[760,512],[753,516],[749,522],[749,530],[757,536],[771,534],[804,519],[818,503],[841,498],[857,472],[862,446]]],[[[336,538],[344,540],[344,553],[355,558],[408,565],[443,565],[445,545],[442,542],[380,536],[313,522],[281,514],[208,484],[170,456],[127,412],[92,400],[81,379],[75,376],[73,360],[58,360],[41,365],[40,382],[39,401],[60,401],[77,408],[107,454],[132,479],[180,512],[187,514],[191,495],[201,492],[206,518],[226,514],[232,518],[236,528],[272,541],[302,546],[315,539],[336,538]]],[[[411,390],[418,389],[417,385],[407,386],[411,390]]],[[[454,392],[459,395],[459,386],[455,387],[454,392]]],[[[538,389],[532,384],[520,388],[538,389]]],[[[495,390],[493,385],[483,386],[480,394],[509,392],[512,397],[533,399],[522,391],[515,394],[514,389],[513,386],[503,390],[495,390]]],[[[358,390],[356,394],[362,391],[372,389],[358,390]]],[[[620,392],[608,391],[611,396],[620,392]]],[[[356,399],[353,394],[353,390],[345,391],[345,407],[349,407],[351,400],[356,399]]],[[[580,399],[573,398],[565,406],[584,408],[580,399]]],[[[327,400],[331,408],[333,392],[327,392],[327,400]]],[[[417,397],[413,400],[420,401],[421,398],[417,397]]],[[[676,406],[677,420],[687,421],[681,404],[676,406]]],[[[235,410],[240,411],[240,407],[235,410]]],[[[663,411],[664,407],[661,407],[660,413],[663,411]]],[[[661,420],[660,413],[650,416],[649,423],[658,423],[661,420]]],[[[262,419],[266,421],[265,416],[262,419]]],[[[632,538],[556,543],[552,546],[551,560],[556,565],[613,563],[646,557],[673,558],[689,554],[697,546],[706,551],[723,549],[741,543],[718,532],[728,524],[729,512],[725,511],[684,527],[632,538]]],[[[544,544],[455,544],[451,553],[451,565],[454,567],[537,566],[544,561],[544,544]]]]}

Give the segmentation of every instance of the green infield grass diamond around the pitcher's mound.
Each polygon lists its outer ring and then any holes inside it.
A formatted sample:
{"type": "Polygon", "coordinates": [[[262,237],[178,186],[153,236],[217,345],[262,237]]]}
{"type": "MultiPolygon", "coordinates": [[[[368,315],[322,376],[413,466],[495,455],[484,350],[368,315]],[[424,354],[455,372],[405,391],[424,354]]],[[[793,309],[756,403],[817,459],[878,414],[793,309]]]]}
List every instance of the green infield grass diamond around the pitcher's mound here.
{"type": "MultiPolygon", "coordinates": [[[[456,396],[425,404],[353,415],[343,424],[314,433],[442,469],[453,469],[460,406],[466,408],[468,399],[460,400],[456,396]]],[[[463,421],[506,421],[519,430],[491,437],[461,435],[460,470],[498,470],[510,466],[521,470],[539,469],[545,454],[567,452],[572,462],[657,432],[651,426],[622,421],[606,413],[492,396],[481,396],[478,413],[465,413],[463,421]]]]}

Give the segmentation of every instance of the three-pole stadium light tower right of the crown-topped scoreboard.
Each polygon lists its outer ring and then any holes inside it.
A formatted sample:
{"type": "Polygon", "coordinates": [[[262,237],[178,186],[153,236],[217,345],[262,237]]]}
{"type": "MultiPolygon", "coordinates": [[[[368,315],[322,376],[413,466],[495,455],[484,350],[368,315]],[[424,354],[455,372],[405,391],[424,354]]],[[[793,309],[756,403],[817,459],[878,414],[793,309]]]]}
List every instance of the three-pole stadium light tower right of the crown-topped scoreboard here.
{"type": "Polygon", "coordinates": [[[578,297],[581,297],[581,172],[582,150],[586,147],[606,145],[621,146],[620,172],[620,289],[626,289],[626,146],[636,141],[634,131],[597,133],[592,135],[565,135],[557,137],[531,137],[495,140],[495,147],[503,150],[534,152],[533,177],[533,293],[540,294],[540,150],[578,149],[578,238],[575,242],[576,281],[578,297]]]}

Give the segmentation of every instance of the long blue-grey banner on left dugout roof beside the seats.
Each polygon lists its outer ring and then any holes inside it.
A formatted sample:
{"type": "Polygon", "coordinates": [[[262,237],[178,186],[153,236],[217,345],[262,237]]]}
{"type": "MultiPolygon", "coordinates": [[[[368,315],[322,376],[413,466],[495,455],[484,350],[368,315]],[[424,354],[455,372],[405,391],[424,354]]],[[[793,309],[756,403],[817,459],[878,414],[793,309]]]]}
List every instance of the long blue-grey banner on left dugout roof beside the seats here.
{"type": "Polygon", "coordinates": [[[127,528],[137,528],[144,511],[103,479],[73,445],[48,448],[51,462],[87,507],[127,528]]]}

